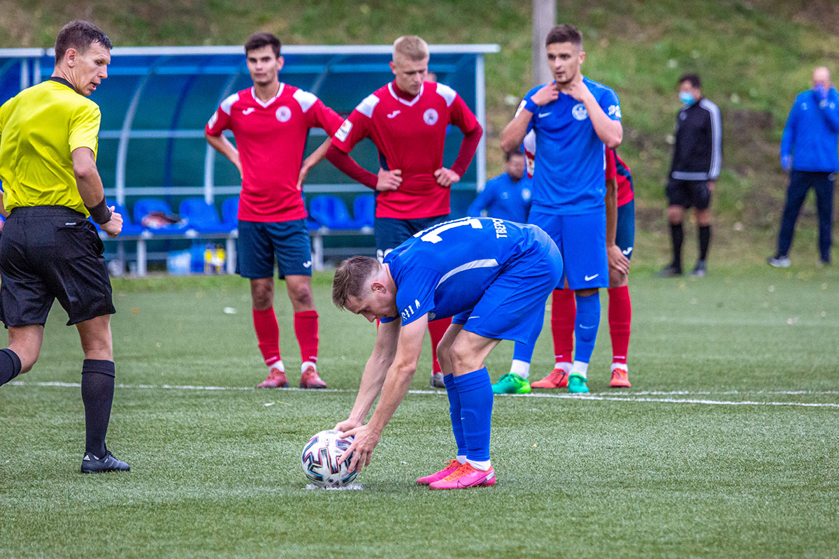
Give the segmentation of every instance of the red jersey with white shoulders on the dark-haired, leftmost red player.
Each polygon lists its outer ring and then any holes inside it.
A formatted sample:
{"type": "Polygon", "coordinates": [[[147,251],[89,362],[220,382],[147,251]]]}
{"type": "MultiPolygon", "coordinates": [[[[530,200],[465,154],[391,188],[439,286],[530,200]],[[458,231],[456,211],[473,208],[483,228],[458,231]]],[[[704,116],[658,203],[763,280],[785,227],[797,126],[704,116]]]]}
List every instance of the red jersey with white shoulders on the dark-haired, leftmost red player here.
{"type": "Polygon", "coordinates": [[[221,136],[229,129],[242,161],[239,219],[290,221],[306,216],[297,178],[310,128],[330,136],[341,116],[308,91],[284,83],[273,99],[260,101],[253,87],[221,101],[207,122],[206,133],[221,136]]]}

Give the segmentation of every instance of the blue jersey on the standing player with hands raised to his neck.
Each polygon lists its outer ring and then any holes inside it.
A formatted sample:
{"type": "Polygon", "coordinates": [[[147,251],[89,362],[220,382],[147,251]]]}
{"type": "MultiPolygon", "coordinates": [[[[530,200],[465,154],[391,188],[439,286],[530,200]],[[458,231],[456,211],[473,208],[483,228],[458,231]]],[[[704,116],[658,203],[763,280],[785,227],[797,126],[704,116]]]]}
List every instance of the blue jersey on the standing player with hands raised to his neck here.
{"type": "MultiPolygon", "coordinates": [[[[583,78],[603,112],[621,120],[618,96],[597,81],[583,78]]],[[[543,85],[524,96],[519,111],[543,85]]],[[[586,106],[560,92],[556,101],[537,107],[528,132],[535,132],[539,164],[533,175],[533,207],[555,215],[579,215],[605,210],[606,152],[586,106]]]]}

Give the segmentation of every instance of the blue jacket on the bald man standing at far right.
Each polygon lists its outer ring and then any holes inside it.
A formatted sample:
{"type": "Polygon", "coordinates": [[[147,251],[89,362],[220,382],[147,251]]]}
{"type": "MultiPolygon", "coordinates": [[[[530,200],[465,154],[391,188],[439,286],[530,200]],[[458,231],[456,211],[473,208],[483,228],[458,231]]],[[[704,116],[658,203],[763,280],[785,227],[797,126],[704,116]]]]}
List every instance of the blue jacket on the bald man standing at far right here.
{"type": "Polygon", "coordinates": [[[827,91],[822,101],[815,90],[801,91],[789,110],[781,158],[792,155],[794,171],[839,171],[839,92],[827,91]]]}

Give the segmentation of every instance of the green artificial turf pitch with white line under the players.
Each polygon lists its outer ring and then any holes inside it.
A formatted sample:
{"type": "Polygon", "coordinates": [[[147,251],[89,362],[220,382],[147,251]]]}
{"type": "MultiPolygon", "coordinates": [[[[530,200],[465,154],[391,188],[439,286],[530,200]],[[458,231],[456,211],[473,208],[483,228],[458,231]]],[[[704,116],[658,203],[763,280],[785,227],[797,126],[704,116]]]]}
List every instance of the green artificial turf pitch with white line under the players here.
{"type": "MultiPolygon", "coordinates": [[[[265,370],[243,280],[115,281],[108,443],[132,471],[78,473],[81,349],[56,306],[35,369],[0,388],[0,556],[836,556],[836,280],[831,268],[633,270],[633,388],[607,388],[604,293],[592,395],[497,397],[498,484],[451,492],[414,485],[454,450],[427,347],[363,489],[305,489],[300,450],[347,417],[375,335],[331,306],[328,274],[315,276],[320,392],[252,389],[265,370]]],[[[495,350],[493,379],[511,355],[495,350]]],[[[546,329],[533,377],[551,365],[546,329]]]]}

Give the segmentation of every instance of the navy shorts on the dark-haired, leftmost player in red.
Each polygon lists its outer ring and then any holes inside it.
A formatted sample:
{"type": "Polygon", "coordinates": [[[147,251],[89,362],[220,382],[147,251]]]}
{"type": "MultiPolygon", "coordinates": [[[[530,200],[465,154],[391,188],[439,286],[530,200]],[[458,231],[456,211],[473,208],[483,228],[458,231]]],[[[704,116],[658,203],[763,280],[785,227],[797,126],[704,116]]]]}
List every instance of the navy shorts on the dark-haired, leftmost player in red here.
{"type": "Polygon", "coordinates": [[[239,220],[237,256],[236,273],[242,277],[274,276],[274,258],[279,277],[312,275],[312,250],[305,220],[239,220]]]}

